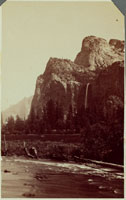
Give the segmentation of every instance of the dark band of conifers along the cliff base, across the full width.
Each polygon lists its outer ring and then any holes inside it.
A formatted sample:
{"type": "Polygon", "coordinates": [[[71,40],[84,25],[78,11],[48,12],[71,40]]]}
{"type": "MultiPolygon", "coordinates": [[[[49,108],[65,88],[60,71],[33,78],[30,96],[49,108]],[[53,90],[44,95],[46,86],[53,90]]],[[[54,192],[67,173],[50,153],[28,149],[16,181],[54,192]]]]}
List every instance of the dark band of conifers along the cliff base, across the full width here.
{"type": "MultiPolygon", "coordinates": [[[[109,115],[111,112],[109,112],[109,115]]],[[[26,134],[43,134],[51,130],[71,130],[75,133],[87,129],[90,130],[95,124],[120,124],[123,127],[124,111],[120,108],[116,115],[111,115],[111,120],[104,117],[103,113],[95,110],[85,109],[84,105],[79,108],[69,106],[68,111],[64,111],[63,105],[50,99],[44,106],[41,114],[36,114],[34,108],[31,109],[27,119],[22,119],[18,115],[16,119],[13,116],[8,117],[5,123],[2,121],[2,131],[13,134],[14,132],[23,132],[26,134]]]]}

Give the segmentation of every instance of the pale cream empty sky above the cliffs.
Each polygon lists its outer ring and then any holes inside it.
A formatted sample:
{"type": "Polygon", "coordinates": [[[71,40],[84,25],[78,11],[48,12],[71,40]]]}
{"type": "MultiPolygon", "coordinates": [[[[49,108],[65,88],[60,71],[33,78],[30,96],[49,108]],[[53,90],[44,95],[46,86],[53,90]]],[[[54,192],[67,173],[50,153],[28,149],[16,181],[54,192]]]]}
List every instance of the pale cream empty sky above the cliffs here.
{"type": "Polygon", "coordinates": [[[50,57],[73,61],[90,35],[124,40],[124,16],[112,2],[4,3],[2,110],[34,94],[50,57]]]}

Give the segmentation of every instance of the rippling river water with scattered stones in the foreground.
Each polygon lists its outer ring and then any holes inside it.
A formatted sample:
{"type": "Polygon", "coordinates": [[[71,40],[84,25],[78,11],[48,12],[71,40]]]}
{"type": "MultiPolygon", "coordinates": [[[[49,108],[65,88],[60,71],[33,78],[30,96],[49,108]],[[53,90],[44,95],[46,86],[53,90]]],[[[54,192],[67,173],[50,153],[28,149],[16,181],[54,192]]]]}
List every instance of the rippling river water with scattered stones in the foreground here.
{"type": "Polygon", "coordinates": [[[123,171],[99,164],[3,157],[2,198],[123,198],[123,171]]]}

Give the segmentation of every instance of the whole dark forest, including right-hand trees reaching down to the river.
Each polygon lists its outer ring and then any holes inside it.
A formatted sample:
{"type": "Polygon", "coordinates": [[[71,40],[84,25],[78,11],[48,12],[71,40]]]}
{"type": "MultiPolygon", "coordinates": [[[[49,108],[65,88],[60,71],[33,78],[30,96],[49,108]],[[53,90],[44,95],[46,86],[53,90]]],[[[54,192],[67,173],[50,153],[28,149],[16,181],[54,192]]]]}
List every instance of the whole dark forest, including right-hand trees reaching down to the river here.
{"type": "Polygon", "coordinates": [[[65,113],[60,103],[50,99],[41,116],[36,116],[33,109],[27,120],[11,116],[2,123],[2,135],[78,134],[81,145],[76,156],[123,164],[122,108],[108,120],[103,113],[92,113],[84,106],[75,109],[70,105],[65,113]]]}

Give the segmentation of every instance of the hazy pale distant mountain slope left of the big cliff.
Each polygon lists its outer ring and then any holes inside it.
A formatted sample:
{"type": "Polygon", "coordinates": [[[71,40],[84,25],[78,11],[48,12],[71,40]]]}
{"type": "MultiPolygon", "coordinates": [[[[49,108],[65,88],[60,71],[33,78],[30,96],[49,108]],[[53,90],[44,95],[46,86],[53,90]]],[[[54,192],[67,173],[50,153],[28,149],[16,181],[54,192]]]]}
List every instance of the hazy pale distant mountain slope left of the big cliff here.
{"type": "Polygon", "coordinates": [[[2,112],[3,122],[5,122],[8,119],[8,117],[13,116],[14,118],[16,118],[17,115],[21,119],[27,119],[31,108],[32,98],[33,96],[25,97],[17,104],[10,106],[5,111],[3,111],[2,112]]]}

